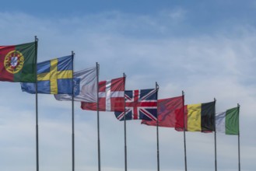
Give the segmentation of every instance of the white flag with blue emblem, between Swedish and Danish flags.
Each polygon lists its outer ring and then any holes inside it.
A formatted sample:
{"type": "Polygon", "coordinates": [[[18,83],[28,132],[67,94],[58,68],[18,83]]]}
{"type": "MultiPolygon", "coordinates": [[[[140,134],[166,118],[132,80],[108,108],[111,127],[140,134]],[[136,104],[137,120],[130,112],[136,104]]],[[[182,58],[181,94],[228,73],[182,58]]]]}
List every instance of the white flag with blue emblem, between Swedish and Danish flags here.
{"type": "MultiPolygon", "coordinates": [[[[74,72],[74,100],[80,102],[97,101],[96,67],[74,72]]],[[[55,94],[57,100],[72,100],[68,94],[55,94]]]]}

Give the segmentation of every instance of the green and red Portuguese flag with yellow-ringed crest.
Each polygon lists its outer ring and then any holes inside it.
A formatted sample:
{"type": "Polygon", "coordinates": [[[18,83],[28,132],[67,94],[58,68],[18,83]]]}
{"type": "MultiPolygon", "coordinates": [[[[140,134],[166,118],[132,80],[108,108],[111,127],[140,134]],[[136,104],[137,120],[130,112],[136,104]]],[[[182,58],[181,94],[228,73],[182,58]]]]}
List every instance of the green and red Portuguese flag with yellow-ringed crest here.
{"type": "Polygon", "coordinates": [[[37,42],[0,46],[0,81],[36,82],[37,42]]]}

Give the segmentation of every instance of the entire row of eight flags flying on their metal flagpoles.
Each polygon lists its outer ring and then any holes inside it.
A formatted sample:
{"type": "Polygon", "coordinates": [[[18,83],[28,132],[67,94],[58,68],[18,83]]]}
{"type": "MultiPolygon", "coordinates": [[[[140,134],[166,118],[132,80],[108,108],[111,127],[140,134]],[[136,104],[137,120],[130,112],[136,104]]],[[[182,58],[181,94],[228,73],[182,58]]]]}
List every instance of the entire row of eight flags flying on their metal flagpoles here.
{"type": "MultiPolygon", "coordinates": [[[[216,113],[216,99],[210,103],[184,105],[182,96],[158,99],[159,85],[155,89],[126,90],[125,78],[111,79],[99,82],[99,65],[80,72],[74,70],[74,52],[63,58],[37,63],[37,42],[14,46],[0,46],[0,58],[4,58],[4,70],[1,81],[22,82],[24,92],[36,96],[36,150],[37,171],[39,171],[39,141],[38,141],[38,93],[54,94],[55,99],[72,101],[72,171],[75,171],[75,123],[74,102],[80,101],[83,110],[95,110],[97,113],[97,148],[98,170],[100,171],[100,111],[113,111],[118,120],[124,121],[124,170],[127,171],[126,120],[142,120],[142,124],[156,126],[157,170],[160,171],[159,127],[174,127],[184,132],[184,169],[187,171],[186,131],[214,131],[215,138],[215,170],[216,131],[218,127],[228,127],[230,133],[238,135],[238,169],[240,170],[240,132],[239,109],[226,110],[226,113],[216,113]],[[30,60],[29,60],[30,59],[30,60]],[[30,62],[29,62],[30,61],[30,62]],[[20,65],[22,64],[22,66],[20,65]],[[24,69],[24,68],[30,69],[24,69]],[[177,100],[177,101],[176,101],[177,100]],[[170,104],[168,104],[170,103],[170,104]],[[138,107],[140,104],[140,108],[138,107]],[[196,115],[196,116],[195,116],[196,115]],[[192,123],[192,117],[202,117],[192,123]],[[228,122],[226,116],[231,116],[231,126],[223,125],[228,122]],[[165,118],[168,118],[165,119],[165,118]],[[235,119],[233,119],[235,118],[235,119]],[[218,123],[216,123],[218,120],[218,123]],[[223,121],[224,120],[224,121],[223,121]],[[220,123],[220,124],[219,124],[220,123]]],[[[3,64],[0,64],[3,65],[3,64]]]]}

